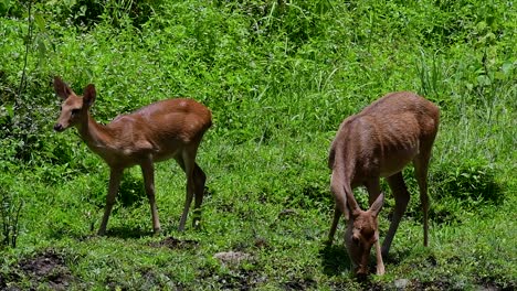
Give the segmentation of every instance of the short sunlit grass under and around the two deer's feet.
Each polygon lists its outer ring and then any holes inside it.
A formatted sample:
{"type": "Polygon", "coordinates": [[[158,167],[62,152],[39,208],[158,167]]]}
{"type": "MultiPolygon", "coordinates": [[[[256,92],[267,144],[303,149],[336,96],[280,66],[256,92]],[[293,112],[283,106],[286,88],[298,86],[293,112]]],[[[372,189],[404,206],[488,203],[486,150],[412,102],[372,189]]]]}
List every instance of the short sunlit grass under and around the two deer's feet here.
{"type": "MultiPolygon", "coordinates": [[[[208,144],[218,149],[213,143],[208,144]]],[[[275,183],[282,183],[278,190],[285,192],[289,184],[304,180],[292,175],[278,182],[271,173],[251,170],[282,172],[282,168],[289,163],[281,158],[278,148],[236,147],[235,155],[255,154],[264,159],[230,171],[218,169],[215,162],[212,164],[211,161],[218,160],[215,154],[202,154],[201,161],[208,163],[207,171],[212,176],[209,184],[211,194],[204,204],[203,229],[198,231],[188,229],[180,234],[175,229],[182,206],[183,179],[178,176],[177,166],[171,172],[169,164],[161,164],[157,171],[158,205],[165,228],[159,237],[149,233],[150,219],[145,200],[133,206],[117,206],[107,238],[92,236],[89,227],[93,223],[98,226],[101,207],[88,204],[85,196],[88,196],[91,181],[104,185],[105,174],[83,176],[64,187],[40,188],[39,195],[52,193],[54,200],[49,202],[34,197],[27,206],[32,217],[24,217],[20,247],[4,257],[6,263],[11,265],[11,269],[3,270],[4,274],[12,278],[12,266],[17,266],[20,258],[38,258],[39,254],[55,251],[64,258],[74,278],[70,281],[78,289],[104,285],[123,289],[391,289],[395,282],[403,282],[401,279],[408,280],[409,289],[515,287],[516,237],[511,230],[516,227],[515,215],[508,217],[515,201],[507,201],[499,207],[486,207],[476,214],[465,213],[466,217],[460,224],[432,224],[428,249],[421,246],[420,222],[404,219],[388,259],[387,276],[356,282],[350,277],[350,266],[340,241],[331,248],[323,244],[330,223],[327,201],[323,201],[319,207],[303,207],[303,203],[289,202],[294,194],[278,196],[262,192],[275,183]],[[281,159],[272,161],[268,157],[281,159]],[[247,183],[241,182],[243,172],[247,183]],[[93,216],[88,215],[89,212],[93,216]],[[169,237],[179,241],[156,246],[169,237]],[[221,266],[213,255],[229,250],[244,251],[253,258],[240,265],[221,266]]],[[[223,152],[224,148],[219,150],[223,152]]],[[[310,171],[310,168],[318,166],[309,164],[307,168],[310,171]]],[[[388,212],[384,209],[381,222],[384,230],[388,228],[388,212]]],[[[341,225],[339,234],[342,231],[341,225]]],[[[34,276],[30,272],[18,270],[17,273],[22,274],[29,285],[34,284],[34,276]]],[[[53,276],[61,278],[62,274],[54,270],[54,274],[44,274],[38,280],[44,285],[54,280],[53,276]]],[[[14,278],[19,281],[15,285],[23,287],[20,278],[14,278]]]]}

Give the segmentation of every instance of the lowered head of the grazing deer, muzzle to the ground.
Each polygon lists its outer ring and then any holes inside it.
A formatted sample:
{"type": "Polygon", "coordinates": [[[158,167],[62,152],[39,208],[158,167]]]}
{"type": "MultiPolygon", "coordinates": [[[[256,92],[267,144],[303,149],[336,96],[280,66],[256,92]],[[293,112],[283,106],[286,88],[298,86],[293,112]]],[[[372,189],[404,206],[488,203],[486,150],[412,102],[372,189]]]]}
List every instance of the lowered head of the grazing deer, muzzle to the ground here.
{"type": "Polygon", "coordinates": [[[368,258],[371,247],[379,240],[379,223],[377,216],[384,203],[384,194],[381,193],[366,212],[361,211],[354,195],[347,195],[347,204],[350,211],[345,244],[348,255],[355,266],[357,274],[368,273],[368,258]]]}

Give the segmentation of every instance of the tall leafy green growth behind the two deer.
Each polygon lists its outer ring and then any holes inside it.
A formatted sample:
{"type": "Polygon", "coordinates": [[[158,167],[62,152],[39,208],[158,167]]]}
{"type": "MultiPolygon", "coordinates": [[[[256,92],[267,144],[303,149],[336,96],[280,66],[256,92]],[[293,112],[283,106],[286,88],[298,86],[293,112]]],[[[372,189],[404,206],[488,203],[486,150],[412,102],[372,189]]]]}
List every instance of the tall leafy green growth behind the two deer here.
{"type": "MultiPolygon", "coordinates": [[[[152,100],[194,97],[213,110],[213,134],[236,144],[334,132],[382,94],[410,89],[437,103],[445,123],[486,123],[483,136],[464,143],[479,139],[489,147],[515,120],[511,8],[477,1],[6,1],[1,160],[84,168],[70,139],[51,133],[53,75],[78,94],[95,83],[95,116],[104,122],[152,100]]],[[[493,162],[510,154],[482,155],[493,162]]]]}

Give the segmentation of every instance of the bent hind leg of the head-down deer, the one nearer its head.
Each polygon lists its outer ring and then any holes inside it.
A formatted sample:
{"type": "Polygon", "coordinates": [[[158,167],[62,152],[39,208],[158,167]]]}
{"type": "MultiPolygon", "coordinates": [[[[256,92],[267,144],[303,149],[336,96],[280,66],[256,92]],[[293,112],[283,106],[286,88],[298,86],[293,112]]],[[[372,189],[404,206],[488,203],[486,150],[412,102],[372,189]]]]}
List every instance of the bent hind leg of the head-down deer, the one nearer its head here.
{"type": "Polygon", "coordinates": [[[382,256],[384,257],[387,257],[388,252],[390,251],[391,242],[393,241],[393,237],[397,233],[397,229],[399,228],[399,223],[402,219],[410,201],[410,193],[405,186],[402,172],[387,177],[387,181],[391,191],[393,192],[395,207],[393,218],[391,219],[390,229],[388,230],[384,241],[382,242],[382,256]]]}

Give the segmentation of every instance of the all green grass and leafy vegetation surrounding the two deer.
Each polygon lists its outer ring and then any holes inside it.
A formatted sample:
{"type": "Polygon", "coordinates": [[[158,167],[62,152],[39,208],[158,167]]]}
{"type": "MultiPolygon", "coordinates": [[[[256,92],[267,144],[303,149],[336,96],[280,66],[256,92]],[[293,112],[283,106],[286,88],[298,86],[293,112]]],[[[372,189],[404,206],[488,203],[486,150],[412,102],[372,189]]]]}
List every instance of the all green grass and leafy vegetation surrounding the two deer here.
{"type": "Polygon", "coordinates": [[[0,289],[516,288],[511,1],[4,0],[0,17],[0,289]],[[94,236],[108,169],[75,130],[53,132],[54,75],[78,94],[95,84],[102,122],[175,96],[211,108],[201,229],[176,230],[186,181],[170,161],[156,166],[160,236],[137,168],[94,236]],[[328,148],[344,118],[394,90],[441,108],[430,247],[410,166],[387,274],[357,281],[342,239],[324,244],[328,148]],[[226,251],[242,258],[215,258],[226,251]]]}

